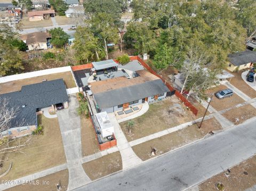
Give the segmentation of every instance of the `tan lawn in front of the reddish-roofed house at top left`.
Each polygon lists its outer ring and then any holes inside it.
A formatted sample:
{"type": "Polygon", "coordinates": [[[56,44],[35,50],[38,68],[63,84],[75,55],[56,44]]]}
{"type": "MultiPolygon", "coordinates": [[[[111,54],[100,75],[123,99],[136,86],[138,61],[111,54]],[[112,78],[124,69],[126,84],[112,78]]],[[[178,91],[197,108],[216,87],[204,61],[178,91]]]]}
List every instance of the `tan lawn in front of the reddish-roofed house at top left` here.
{"type": "Polygon", "coordinates": [[[21,20],[22,29],[43,28],[43,27],[51,27],[51,26],[52,26],[51,18],[45,19],[43,21],[29,21],[28,17],[24,16],[21,20]]]}

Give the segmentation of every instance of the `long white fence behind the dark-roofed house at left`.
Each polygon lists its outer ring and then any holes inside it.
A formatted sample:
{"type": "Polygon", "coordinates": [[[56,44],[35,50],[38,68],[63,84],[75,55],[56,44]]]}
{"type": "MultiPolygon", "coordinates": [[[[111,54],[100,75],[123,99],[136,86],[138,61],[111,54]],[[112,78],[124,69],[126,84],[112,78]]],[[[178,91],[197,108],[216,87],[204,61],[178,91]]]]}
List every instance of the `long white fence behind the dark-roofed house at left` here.
{"type": "Polygon", "coordinates": [[[46,70],[39,70],[35,72],[20,73],[12,76],[1,77],[0,83],[5,83],[8,81],[14,81],[14,80],[21,80],[25,78],[33,78],[33,77],[43,76],[51,73],[68,72],[68,71],[70,71],[73,74],[71,67],[52,68],[52,69],[46,69],[46,70]]]}

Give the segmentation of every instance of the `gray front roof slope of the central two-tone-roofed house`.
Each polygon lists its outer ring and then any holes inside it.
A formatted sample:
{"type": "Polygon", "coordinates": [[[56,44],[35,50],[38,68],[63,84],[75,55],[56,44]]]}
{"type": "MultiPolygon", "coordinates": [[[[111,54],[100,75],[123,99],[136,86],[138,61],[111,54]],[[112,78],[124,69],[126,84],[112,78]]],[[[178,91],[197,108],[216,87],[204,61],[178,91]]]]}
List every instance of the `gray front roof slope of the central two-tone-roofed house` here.
{"type": "Polygon", "coordinates": [[[138,85],[94,94],[94,98],[100,109],[106,109],[165,92],[170,92],[170,90],[161,79],[156,79],[138,85]]]}

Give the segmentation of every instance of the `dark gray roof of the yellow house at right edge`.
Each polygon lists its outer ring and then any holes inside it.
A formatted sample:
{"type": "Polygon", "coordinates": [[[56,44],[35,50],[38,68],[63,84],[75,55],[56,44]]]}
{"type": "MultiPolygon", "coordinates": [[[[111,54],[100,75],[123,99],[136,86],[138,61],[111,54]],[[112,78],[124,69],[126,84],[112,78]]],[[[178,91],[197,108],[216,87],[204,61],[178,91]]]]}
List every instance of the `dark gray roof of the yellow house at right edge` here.
{"type": "Polygon", "coordinates": [[[229,62],[235,66],[256,62],[256,52],[244,51],[228,55],[229,62]]]}

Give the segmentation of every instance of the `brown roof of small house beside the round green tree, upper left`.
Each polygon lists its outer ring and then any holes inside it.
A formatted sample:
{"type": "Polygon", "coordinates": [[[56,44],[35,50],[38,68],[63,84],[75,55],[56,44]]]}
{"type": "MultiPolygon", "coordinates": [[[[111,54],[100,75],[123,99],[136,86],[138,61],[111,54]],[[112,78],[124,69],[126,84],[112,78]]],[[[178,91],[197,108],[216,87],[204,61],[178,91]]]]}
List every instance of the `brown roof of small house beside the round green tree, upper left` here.
{"type": "Polygon", "coordinates": [[[34,44],[34,43],[47,43],[46,38],[51,37],[48,32],[32,32],[27,35],[22,35],[21,39],[26,40],[26,44],[34,44]]]}

